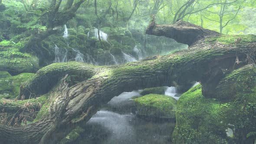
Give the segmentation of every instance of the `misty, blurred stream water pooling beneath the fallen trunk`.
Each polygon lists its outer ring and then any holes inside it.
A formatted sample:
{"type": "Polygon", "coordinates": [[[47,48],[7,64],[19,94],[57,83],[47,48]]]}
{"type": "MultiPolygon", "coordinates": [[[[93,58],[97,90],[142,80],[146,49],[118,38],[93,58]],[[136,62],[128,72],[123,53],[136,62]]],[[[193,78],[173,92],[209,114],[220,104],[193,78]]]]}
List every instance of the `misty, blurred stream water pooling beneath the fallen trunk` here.
{"type": "Polygon", "coordinates": [[[139,91],[123,92],[108,102],[87,122],[77,144],[169,144],[175,122],[151,122],[131,113],[132,97],[139,91]]]}

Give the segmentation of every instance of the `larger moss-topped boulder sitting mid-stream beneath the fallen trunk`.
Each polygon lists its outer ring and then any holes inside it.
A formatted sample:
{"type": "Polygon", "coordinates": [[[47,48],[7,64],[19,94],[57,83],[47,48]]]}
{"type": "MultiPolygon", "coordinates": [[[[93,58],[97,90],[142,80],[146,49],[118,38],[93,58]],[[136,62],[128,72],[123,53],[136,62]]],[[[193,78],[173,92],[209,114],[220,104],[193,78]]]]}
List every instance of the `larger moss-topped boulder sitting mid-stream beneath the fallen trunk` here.
{"type": "Polygon", "coordinates": [[[134,100],[137,115],[145,118],[175,119],[176,100],[166,95],[149,94],[134,100]]]}

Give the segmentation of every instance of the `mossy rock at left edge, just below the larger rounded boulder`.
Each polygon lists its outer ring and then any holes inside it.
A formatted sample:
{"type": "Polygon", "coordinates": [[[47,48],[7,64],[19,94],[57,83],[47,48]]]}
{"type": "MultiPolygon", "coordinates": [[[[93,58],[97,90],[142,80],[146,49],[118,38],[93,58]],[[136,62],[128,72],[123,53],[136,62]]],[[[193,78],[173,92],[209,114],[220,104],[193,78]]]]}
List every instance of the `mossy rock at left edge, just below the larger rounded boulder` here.
{"type": "Polygon", "coordinates": [[[21,73],[20,75],[10,76],[10,74],[8,75],[6,72],[0,72],[0,74],[1,73],[6,76],[5,78],[0,78],[0,98],[6,99],[17,97],[20,92],[21,83],[34,75],[33,73],[21,73]]]}

